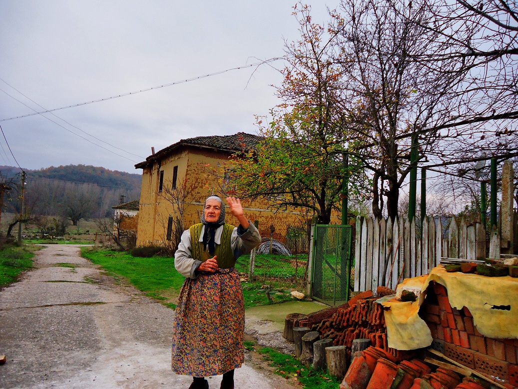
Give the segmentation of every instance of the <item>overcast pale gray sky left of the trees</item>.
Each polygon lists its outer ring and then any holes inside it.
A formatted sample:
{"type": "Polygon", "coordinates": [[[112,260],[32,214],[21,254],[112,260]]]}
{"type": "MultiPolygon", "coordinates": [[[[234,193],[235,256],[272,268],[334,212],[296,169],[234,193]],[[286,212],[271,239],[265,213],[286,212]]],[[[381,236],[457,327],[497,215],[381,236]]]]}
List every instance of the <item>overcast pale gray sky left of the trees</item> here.
{"type": "MultiPolygon", "coordinates": [[[[314,20],[323,22],[326,5],[334,8],[338,0],[308,4],[314,20]]],[[[268,65],[56,110],[59,118],[5,119],[281,57],[284,40],[298,36],[294,5],[0,0],[0,124],[12,154],[25,169],[87,164],[140,173],[134,164],[152,146],[157,151],[182,138],[256,133],[254,115],[268,114],[279,102],[271,85],[281,76],[268,65]]],[[[281,68],[282,61],[272,66],[281,68]]],[[[0,145],[0,165],[16,166],[2,134],[0,145]]]]}

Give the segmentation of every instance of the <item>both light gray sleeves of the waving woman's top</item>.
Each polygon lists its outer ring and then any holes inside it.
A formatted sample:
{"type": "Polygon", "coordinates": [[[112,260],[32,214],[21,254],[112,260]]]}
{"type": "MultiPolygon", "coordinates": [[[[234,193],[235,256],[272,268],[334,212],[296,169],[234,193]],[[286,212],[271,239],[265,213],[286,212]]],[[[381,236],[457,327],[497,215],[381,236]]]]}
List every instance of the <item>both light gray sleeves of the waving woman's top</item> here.
{"type": "MultiPolygon", "coordinates": [[[[261,235],[255,226],[249,221],[250,226],[245,230],[241,225],[234,228],[231,237],[231,247],[234,252],[234,258],[248,254],[252,248],[261,243],[261,235]]],[[[182,233],[180,244],[175,253],[175,268],[185,277],[195,279],[198,275],[196,270],[202,264],[202,261],[192,258],[191,249],[191,233],[185,230],[182,233]]]]}

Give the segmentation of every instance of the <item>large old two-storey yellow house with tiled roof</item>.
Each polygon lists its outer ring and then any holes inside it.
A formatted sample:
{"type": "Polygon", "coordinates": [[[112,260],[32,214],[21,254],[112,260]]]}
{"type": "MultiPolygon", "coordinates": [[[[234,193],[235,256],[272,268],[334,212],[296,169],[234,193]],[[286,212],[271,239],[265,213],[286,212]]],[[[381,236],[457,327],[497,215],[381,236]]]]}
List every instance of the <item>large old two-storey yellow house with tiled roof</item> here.
{"type": "MultiPolygon", "coordinates": [[[[232,183],[223,166],[235,152],[250,149],[261,141],[257,135],[239,132],[226,136],[198,136],[183,139],[137,163],[142,169],[137,246],[174,246],[178,234],[200,222],[205,199],[212,194],[225,197],[232,183]],[[215,174],[219,171],[219,175],[215,174]]],[[[259,221],[262,237],[285,242],[288,228],[306,228],[299,212],[271,210],[266,200],[243,200],[248,218],[259,221]]],[[[227,213],[227,223],[237,220],[227,213]]]]}

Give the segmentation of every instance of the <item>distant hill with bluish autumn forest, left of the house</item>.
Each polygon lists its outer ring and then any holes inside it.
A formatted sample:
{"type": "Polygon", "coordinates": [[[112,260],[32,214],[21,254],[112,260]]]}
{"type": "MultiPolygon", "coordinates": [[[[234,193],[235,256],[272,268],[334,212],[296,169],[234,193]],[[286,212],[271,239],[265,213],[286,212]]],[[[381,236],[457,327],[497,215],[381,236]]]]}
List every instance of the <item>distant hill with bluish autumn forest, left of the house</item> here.
{"type": "MultiPolygon", "coordinates": [[[[12,177],[21,173],[19,168],[13,166],[0,166],[0,172],[4,177],[12,177]]],[[[142,183],[141,174],[108,170],[92,165],[66,165],[50,166],[50,168],[40,170],[26,170],[27,179],[47,178],[59,179],[73,183],[96,184],[99,187],[110,189],[127,189],[140,191],[142,183]]]]}

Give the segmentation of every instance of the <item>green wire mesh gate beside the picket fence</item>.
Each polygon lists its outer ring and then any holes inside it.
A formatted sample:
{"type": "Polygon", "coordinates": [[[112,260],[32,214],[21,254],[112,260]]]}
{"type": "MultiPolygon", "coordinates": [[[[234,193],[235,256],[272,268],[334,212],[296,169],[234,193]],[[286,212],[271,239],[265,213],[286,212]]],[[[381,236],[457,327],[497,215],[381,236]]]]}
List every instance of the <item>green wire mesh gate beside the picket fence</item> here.
{"type": "Polygon", "coordinates": [[[318,224],[313,237],[312,298],[343,304],[349,300],[352,226],[318,224]]]}

